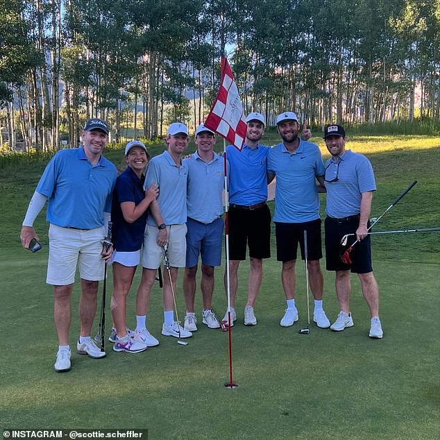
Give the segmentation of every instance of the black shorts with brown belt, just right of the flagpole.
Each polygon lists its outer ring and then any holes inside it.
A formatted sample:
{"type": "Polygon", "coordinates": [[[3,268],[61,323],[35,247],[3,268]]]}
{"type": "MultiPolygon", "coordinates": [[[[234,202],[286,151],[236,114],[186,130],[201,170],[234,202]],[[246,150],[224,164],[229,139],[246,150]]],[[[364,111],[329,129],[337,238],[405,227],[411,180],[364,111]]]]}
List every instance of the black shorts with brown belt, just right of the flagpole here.
{"type": "Polygon", "coordinates": [[[230,207],[228,211],[229,259],[271,257],[271,210],[264,204],[255,210],[230,207]]]}

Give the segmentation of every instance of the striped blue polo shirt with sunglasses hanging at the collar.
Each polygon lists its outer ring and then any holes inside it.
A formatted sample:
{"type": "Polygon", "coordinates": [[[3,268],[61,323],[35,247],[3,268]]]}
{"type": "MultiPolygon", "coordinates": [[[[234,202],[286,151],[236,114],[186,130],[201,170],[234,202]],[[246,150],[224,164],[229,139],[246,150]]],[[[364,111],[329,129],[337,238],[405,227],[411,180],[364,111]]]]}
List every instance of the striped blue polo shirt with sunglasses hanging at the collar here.
{"type": "Polygon", "coordinates": [[[325,162],[325,180],[336,177],[336,182],[325,182],[325,212],[335,219],[359,214],[362,193],[376,189],[371,162],[363,154],[347,150],[336,160],[330,158],[325,162]]]}

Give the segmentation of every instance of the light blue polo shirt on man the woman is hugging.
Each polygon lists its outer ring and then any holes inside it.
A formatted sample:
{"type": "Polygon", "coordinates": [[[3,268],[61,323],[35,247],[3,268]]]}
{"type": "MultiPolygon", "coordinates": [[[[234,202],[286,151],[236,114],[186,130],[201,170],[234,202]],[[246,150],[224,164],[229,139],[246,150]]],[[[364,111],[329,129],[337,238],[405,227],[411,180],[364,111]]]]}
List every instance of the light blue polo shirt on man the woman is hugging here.
{"type": "MultiPolygon", "coordinates": [[[[185,160],[178,167],[168,151],[151,159],[146,168],[144,189],[153,182],[159,185],[157,200],[167,225],[180,225],[187,221],[187,179],[188,165],[185,160]]],[[[156,226],[151,212],[146,222],[156,226]]]]}

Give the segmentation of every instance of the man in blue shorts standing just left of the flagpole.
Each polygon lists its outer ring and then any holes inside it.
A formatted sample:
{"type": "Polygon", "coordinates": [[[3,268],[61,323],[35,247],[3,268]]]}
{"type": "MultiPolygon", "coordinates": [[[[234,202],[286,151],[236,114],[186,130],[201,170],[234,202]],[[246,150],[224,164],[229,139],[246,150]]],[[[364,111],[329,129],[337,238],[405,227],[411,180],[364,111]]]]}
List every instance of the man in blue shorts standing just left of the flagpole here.
{"type": "Polygon", "coordinates": [[[186,159],[188,166],[187,187],[187,258],[183,291],[187,313],[185,328],[197,330],[194,312],[196,295],[196,273],[198,257],[201,255],[201,291],[203,297],[203,323],[208,328],[219,328],[219,321],[212,312],[214,291],[214,267],[221,265],[223,242],[223,158],[214,153],[215,134],[203,124],[195,134],[197,151],[186,159]]]}

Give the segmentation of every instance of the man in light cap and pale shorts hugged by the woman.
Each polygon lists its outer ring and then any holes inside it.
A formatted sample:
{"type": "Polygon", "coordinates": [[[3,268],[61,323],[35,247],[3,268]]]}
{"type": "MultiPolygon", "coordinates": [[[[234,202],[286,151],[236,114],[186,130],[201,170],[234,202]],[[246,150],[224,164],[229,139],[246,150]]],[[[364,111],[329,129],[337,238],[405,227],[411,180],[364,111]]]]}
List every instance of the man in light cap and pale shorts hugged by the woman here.
{"type": "MultiPolygon", "coordinates": [[[[155,282],[156,271],[162,262],[165,245],[167,245],[173,287],[176,286],[178,268],[185,267],[188,166],[185,161],[182,161],[182,155],[189,143],[187,126],[180,122],[171,124],[165,143],[167,150],[149,162],[144,184],[144,189],[153,183],[157,183],[159,186],[158,203],[151,206],[146,219],[142,281],[138,290],[138,301],[143,301],[146,304],[146,312],[148,312],[151,288],[155,282]],[[158,208],[160,208],[160,214],[164,219],[161,224],[155,221],[155,218],[159,218],[158,215],[160,215],[155,212],[158,208]]],[[[191,337],[191,332],[180,327],[180,324],[174,321],[174,304],[169,277],[164,276],[163,280],[164,324],[162,325],[162,335],[191,337]]],[[[143,334],[135,335],[135,337],[139,341],[144,341],[149,335],[144,331],[143,334]]]]}

